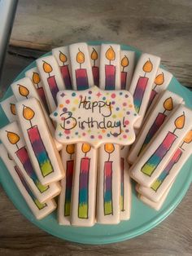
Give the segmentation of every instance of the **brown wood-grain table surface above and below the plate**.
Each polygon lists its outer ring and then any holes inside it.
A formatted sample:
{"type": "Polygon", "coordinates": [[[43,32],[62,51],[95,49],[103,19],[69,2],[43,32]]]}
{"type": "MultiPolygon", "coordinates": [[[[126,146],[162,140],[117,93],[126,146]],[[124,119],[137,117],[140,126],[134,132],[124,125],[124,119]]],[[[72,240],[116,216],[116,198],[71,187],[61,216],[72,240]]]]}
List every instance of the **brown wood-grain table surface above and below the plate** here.
{"type": "MultiPolygon", "coordinates": [[[[44,51],[88,40],[136,46],[162,58],[192,86],[191,0],[20,0],[0,95],[44,51]]],[[[0,255],[192,255],[192,189],[150,232],[112,245],[79,245],[46,234],[15,209],[0,187],[0,255]]],[[[141,213],[142,214],[142,213],[141,213]]]]}

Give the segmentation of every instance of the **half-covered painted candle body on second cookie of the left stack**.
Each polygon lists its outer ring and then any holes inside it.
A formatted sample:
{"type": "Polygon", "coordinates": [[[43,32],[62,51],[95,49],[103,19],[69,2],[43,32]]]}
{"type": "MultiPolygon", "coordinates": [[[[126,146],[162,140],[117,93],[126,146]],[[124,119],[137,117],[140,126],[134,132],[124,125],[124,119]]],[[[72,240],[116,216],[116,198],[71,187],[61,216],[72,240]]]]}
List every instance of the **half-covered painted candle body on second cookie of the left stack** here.
{"type": "Polygon", "coordinates": [[[24,170],[26,170],[28,176],[33,180],[33,183],[36,184],[39,191],[41,193],[45,192],[49,188],[49,186],[43,186],[39,182],[39,180],[37,178],[37,174],[33,170],[33,166],[32,166],[32,163],[30,161],[30,158],[28,157],[27,149],[25,147],[20,148],[15,152],[15,154],[20,159],[21,164],[24,166],[24,170]]]}

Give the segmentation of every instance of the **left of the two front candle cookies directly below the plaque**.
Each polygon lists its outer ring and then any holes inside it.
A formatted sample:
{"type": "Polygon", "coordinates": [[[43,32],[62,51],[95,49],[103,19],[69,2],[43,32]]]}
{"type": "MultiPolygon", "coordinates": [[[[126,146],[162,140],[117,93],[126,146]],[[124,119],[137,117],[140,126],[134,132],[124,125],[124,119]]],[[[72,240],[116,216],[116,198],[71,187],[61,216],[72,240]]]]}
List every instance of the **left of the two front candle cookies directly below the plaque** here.
{"type": "Polygon", "coordinates": [[[77,143],[72,186],[72,225],[85,227],[94,225],[96,184],[97,150],[89,143],[77,143]]]}

